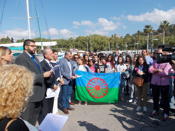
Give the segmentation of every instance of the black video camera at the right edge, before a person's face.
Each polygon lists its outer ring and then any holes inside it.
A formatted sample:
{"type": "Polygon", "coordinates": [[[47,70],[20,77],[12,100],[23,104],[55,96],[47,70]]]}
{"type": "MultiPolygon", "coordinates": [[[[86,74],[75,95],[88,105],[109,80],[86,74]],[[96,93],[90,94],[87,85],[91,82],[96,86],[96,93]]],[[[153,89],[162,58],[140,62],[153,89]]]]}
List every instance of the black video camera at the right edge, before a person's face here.
{"type": "Polygon", "coordinates": [[[159,46],[158,48],[162,48],[162,51],[169,52],[170,54],[164,55],[162,53],[158,53],[156,55],[157,63],[171,63],[172,60],[175,60],[175,46],[159,46]]]}

